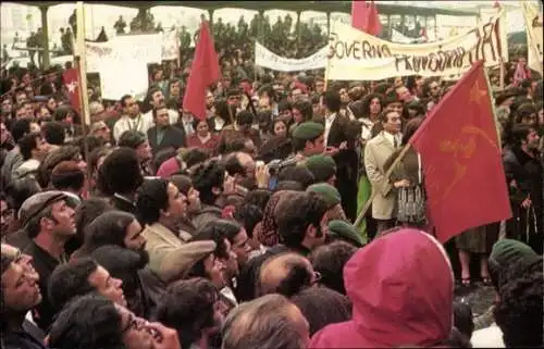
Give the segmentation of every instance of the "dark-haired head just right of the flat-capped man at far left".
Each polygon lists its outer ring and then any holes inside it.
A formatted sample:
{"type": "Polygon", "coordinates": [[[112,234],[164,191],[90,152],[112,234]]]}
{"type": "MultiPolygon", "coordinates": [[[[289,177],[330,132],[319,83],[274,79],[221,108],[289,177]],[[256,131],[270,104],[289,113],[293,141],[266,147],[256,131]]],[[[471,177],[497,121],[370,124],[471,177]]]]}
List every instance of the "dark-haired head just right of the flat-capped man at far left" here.
{"type": "Polygon", "coordinates": [[[83,246],[74,252],[72,258],[87,257],[97,248],[104,245],[115,245],[145,253],[146,240],[140,235],[141,225],[136,217],[123,211],[108,211],[100,214],[85,229],[83,246]]]}

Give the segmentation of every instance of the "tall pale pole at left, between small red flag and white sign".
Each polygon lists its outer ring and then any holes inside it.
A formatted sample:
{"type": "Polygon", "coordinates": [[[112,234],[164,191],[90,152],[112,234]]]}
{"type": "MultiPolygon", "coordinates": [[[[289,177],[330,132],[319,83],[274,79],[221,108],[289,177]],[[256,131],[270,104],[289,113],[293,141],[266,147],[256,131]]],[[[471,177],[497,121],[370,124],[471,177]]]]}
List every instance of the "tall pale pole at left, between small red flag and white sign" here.
{"type": "MultiPolygon", "coordinates": [[[[85,159],[89,159],[89,147],[87,144],[88,127],[90,126],[89,98],[87,91],[87,54],[85,51],[85,4],[77,1],[76,4],[77,23],[77,50],[74,50],[74,59],[78,74],[79,99],[82,105],[82,132],[83,132],[83,151],[85,159]]],[[[92,177],[92,169],[87,166],[87,180],[92,177]]],[[[90,188],[89,188],[90,189],[90,188]]]]}

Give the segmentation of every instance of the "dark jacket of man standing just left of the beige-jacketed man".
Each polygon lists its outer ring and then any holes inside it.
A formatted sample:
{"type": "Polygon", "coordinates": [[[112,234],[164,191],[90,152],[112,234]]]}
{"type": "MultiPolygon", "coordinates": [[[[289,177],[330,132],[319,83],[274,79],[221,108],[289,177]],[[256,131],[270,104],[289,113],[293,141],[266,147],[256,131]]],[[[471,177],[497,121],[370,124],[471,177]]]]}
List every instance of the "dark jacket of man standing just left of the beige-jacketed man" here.
{"type": "Polygon", "coordinates": [[[355,150],[355,139],[349,135],[349,120],[336,114],[329,137],[327,147],[338,148],[347,141],[348,149],[341,150],[333,157],[336,162],[336,188],[342,197],[342,207],[347,217],[354,222],[357,216],[357,183],[358,183],[358,155],[355,150]]]}

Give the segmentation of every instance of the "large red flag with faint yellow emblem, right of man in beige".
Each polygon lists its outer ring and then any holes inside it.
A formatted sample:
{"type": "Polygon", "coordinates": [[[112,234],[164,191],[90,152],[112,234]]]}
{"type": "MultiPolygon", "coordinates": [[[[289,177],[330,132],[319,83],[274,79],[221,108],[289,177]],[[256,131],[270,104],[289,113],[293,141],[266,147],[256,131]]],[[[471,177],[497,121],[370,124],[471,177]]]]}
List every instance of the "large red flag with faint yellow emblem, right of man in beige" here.
{"type": "Polygon", "coordinates": [[[432,110],[410,144],[421,154],[428,212],[440,241],[511,216],[482,61],[432,110]]]}

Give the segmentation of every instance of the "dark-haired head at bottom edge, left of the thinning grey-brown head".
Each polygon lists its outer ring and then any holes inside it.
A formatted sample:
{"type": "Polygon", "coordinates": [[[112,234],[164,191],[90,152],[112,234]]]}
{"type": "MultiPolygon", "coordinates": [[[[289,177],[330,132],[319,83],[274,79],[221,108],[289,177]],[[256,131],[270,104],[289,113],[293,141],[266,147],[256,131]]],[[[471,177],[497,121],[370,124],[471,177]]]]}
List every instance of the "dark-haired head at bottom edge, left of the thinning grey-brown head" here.
{"type": "Polygon", "coordinates": [[[177,331],[183,349],[210,348],[209,336],[218,333],[223,322],[215,306],[219,298],[217,288],[206,278],[178,281],[165,290],[157,320],[177,331]]]}

